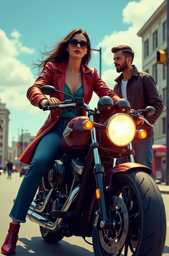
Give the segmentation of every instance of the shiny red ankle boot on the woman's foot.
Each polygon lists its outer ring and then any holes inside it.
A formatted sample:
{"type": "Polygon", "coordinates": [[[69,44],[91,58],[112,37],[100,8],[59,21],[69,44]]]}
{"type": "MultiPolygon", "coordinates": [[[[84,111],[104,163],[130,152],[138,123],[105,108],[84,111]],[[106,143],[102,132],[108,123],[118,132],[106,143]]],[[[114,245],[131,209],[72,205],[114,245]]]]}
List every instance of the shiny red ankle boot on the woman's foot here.
{"type": "Polygon", "coordinates": [[[16,249],[20,225],[11,224],[5,242],[2,245],[1,252],[5,255],[13,255],[16,249]]]}

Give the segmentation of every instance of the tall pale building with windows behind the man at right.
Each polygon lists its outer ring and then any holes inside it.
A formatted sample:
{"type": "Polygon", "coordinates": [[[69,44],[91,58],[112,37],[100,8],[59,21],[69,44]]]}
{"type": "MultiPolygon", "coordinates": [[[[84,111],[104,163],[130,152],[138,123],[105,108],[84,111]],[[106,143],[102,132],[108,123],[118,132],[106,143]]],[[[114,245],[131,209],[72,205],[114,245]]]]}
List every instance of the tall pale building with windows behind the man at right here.
{"type": "Polygon", "coordinates": [[[154,144],[166,145],[167,66],[157,64],[157,51],[167,49],[167,1],[160,5],[137,35],[142,37],[142,69],[153,76],[164,105],[162,115],[154,124],[154,144]]]}

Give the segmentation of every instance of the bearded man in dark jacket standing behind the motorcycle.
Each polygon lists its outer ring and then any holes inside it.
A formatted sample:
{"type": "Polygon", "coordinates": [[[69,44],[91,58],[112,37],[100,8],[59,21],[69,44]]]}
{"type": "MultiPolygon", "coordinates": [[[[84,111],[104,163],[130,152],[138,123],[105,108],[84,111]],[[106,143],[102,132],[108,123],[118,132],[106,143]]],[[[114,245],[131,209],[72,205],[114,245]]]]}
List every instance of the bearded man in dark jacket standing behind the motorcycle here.
{"type": "MultiPolygon", "coordinates": [[[[135,65],[132,65],[134,52],[129,46],[116,46],[112,48],[114,53],[114,64],[118,73],[121,75],[115,80],[114,92],[121,98],[127,99],[134,110],[145,109],[147,106],[153,106],[155,113],[151,116],[143,112],[144,118],[149,123],[154,124],[163,112],[163,103],[160,99],[153,77],[143,71],[138,71],[135,65]]],[[[148,124],[140,123],[136,129],[147,131],[147,138],[135,138],[132,142],[135,151],[134,160],[137,163],[153,169],[153,128],[148,124]]],[[[116,164],[126,162],[126,157],[118,158],[116,164]]]]}

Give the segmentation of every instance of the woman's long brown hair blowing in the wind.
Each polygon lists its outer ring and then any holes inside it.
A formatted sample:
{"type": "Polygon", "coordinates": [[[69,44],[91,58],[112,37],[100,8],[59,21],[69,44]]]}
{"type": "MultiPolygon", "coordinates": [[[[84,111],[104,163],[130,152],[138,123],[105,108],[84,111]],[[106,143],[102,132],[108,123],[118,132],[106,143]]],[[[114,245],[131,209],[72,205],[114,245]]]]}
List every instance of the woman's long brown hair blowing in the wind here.
{"type": "Polygon", "coordinates": [[[89,46],[88,46],[88,51],[87,51],[87,54],[84,55],[84,57],[82,58],[82,64],[83,65],[88,65],[88,63],[91,61],[91,42],[90,42],[90,39],[88,37],[88,34],[80,29],[80,28],[77,28],[77,29],[74,29],[72,30],[68,35],[66,35],[65,38],[63,38],[61,41],[59,41],[57,44],[55,44],[54,46],[52,47],[46,47],[45,46],[45,52],[41,52],[42,54],[42,60],[38,60],[40,62],[40,64],[36,64],[34,63],[32,66],[34,66],[32,69],[34,69],[35,67],[38,67],[38,75],[40,75],[44,69],[45,69],[45,65],[47,62],[58,62],[58,63],[61,63],[65,60],[69,60],[69,53],[68,51],[66,51],[66,47],[68,46],[68,40],[71,39],[75,34],[83,34],[86,39],[87,39],[87,42],[89,42],[89,46]],[[47,52],[46,51],[46,48],[49,48],[52,50],[47,52]],[[45,60],[43,60],[43,58],[45,56],[48,56],[47,58],[45,58],[45,60]]]}

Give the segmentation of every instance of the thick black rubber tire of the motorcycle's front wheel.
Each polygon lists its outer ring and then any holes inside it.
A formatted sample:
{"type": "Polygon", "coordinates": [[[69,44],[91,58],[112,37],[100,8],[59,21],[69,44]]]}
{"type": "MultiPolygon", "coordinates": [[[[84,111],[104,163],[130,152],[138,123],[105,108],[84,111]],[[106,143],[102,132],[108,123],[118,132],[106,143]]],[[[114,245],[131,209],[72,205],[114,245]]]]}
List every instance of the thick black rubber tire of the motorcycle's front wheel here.
{"type": "MultiPolygon", "coordinates": [[[[127,256],[128,250],[131,251],[129,255],[133,256],[162,256],[166,237],[166,216],[163,199],[155,181],[143,171],[119,172],[112,178],[112,188],[108,191],[108,197],[120,194],[127,205],[129,227],[127,239],[118,252],[118,256],[127,256]],[[127,188],[129,189],[126,196],[127,188]],[[134,219],[133,216],[136,218],[134,219]],[[137,224],[133,222],[133,219],[137,221],[137,224]],[[133,232],[135,232],[134,236],[133,232]],[[122,251],[123,248],[126,252],[122,251]]],[[[96,211],[99,211],[99,204],[96,205],[94,212],[96,211]]],[[[93,225],[95,219],[96,215],[94,214],[93,225]]],[[[103,249],[101,233],[94,226],[92,237],[95,256],[112,255],[108,253],[108,250],[103,249]]],[[[107,237],[104,236],[106,242],[108,241],[107,237]]],[[[115,244],[115,240],[113,242],[115,244]]],[[[113,242],[108,241],[108,246],[115,246],[113,242]]],[[[114,250],[116,250],[115,247],[114,250]]]]}

